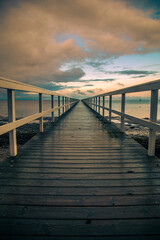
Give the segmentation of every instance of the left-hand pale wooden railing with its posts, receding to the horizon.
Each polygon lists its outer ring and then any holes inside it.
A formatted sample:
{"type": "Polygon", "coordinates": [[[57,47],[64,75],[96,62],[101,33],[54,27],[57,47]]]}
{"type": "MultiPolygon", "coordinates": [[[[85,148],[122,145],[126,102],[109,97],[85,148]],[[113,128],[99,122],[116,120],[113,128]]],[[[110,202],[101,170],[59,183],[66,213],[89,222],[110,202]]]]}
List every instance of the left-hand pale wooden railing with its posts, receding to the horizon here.
{"type": "Polygon", "coordinates": [[[0,126],[0,135],[9,132],[9,142],[10,142],[10,155],[17,155],[17,140],[16,140],[16,128],[29,123],[33,120],[39,119],[40,132],[43,132],[43,116],[51,113],[51,120],[54,122],[54,112],[58,110],[58,117],[72,108],[79,100],[73,99],[67,96],[62,96],[56,94],[53,91],[48,91],[39,87],[35,87],[29,84],[17,82],[14,80],[6,79],[0,77],[0,88],[7,89],[7,99],[8,99],[8,122],[0,126]],[[15,90],[34,92],[39,94],[39,113],[24,117],[22,119],[16,120],[15,113],[15,90]],[[51,96],[51,109],[43,111],[43,94],[51,96]],[[58,106],[54,106],[54,97],[58,97],[58,106]],[[62,109],[62,110],[61,110],[62,109]],[[61,111],[60,111],[61,110],[61,111]]]}

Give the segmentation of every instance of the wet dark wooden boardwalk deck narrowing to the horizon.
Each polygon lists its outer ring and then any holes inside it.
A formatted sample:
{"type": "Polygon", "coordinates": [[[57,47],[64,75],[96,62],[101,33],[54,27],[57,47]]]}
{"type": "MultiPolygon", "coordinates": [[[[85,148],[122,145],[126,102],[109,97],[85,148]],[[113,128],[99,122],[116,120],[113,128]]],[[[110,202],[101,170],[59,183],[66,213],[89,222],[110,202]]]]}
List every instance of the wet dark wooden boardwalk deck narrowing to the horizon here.
{"type": "Polygon", "coordinates": [[[81,102],[0,178],[3,240],[160,239],[159,160],[81,102]]]}

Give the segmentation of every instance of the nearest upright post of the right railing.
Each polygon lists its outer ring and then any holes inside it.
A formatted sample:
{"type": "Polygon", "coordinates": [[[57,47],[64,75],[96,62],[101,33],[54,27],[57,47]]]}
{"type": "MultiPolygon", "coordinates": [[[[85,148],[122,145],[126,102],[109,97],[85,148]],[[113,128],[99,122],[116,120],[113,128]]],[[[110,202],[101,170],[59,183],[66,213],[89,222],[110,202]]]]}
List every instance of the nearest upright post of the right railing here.
{"type": "MultiPolygon", "coordinates": [[[[157,121],[157,106],[158,106],[158,90],[151,91],[151,105],[150,105],[150,121],[157,121]]],[[[155,155],[156,145],[156,131],[153,129],[149,130],[149,142],[148,142],[148,155],[155,155]]]]}

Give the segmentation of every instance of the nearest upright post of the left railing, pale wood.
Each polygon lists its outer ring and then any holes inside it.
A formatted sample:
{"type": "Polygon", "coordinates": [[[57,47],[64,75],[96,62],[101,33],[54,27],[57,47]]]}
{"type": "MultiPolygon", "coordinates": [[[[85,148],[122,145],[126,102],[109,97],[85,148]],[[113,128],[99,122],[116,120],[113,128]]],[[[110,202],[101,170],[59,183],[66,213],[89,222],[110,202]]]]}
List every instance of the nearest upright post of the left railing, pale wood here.
{"type": "MultiPolygon", "coordinates": [[[[16,111],[15,111],[15,91],[8,89],[8,121],[15,122],[16,111]]],[[[17,139],[16,129],[9,132],[9,143],[10,143],[10,155],[17,155],[17,139]]]]}

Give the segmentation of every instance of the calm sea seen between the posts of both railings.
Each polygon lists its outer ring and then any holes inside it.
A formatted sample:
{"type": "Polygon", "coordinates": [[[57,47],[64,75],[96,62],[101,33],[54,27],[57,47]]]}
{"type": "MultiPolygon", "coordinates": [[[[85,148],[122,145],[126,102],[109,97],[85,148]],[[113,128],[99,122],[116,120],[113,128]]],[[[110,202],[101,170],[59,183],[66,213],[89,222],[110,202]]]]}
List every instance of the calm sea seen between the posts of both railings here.
{"type": "MultiPolygon", "coordinates": [[[[102,102],[101,102],[102,104],[102,102]]],[[[55,106],[57,106],[57,100],[55,100],[55,106]]],[[[50,109],[51,103],[50,100],[44,100],[43,101],[43,109],[47,110],[50,109]]],[[[105,106],[109,106],[109,101],[105,101],[105,106]]],[[[120,99],[113,100],[112,108],[115,110],[120,111],[121,109],[121,103],[120,99]]],[[[38,100],[16,100],[16,119],[23,118],[35,113],[39,112],[39,103],[38,100]]],[[[126,100],[125,105],[125,112],[126,114],[132,115],[134,117],[138,118],[150,118],[150,100],[149,99],[128,99],[126,100]]],[[[101,111],[102,113],[102,111],[101,111]]],[[[57,116],[58,113],[55,111],[55,116],[57,116]]],[[[7,101],[6,100],[0,100],[0,118],[6,118],[8,116],[8,110],[7,110],[7,101]]],[[[47,117],[50,116],[47,115],[47,117]]],[[[105,116],[108,116],[108,111],[105,111],[105,116]]],[[[116,115],[113,114],[113,117],[116,115]]],[[[160,121],[160,99],[158,104],[158,116],[157,119],[160,121]]]]}

